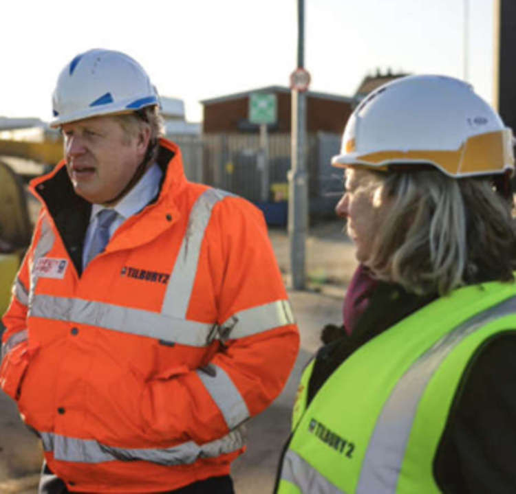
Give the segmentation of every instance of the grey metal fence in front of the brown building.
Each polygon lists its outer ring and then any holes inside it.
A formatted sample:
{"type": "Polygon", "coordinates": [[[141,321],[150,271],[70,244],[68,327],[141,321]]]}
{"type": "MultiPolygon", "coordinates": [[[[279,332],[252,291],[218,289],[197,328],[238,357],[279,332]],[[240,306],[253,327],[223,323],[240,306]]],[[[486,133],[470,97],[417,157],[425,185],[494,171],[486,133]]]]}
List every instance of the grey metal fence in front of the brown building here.
{"type": "MultiPolygon", "coordinates": [[[[260,203],[286,200],[290,170],[290,134],[268,137],[268,191],[264,194],[259,136],[246,134],[169,135],[181,148],[186,177],[207,183],[260,203]]],[[[310,214],[333,214],[342,192],[342,173],[330,166],[338,153],[341,136],[308,134],[305,155],[309,178],[310,214]]],[[[263,168],[263,167],[262,167],[263,168]]]]}

